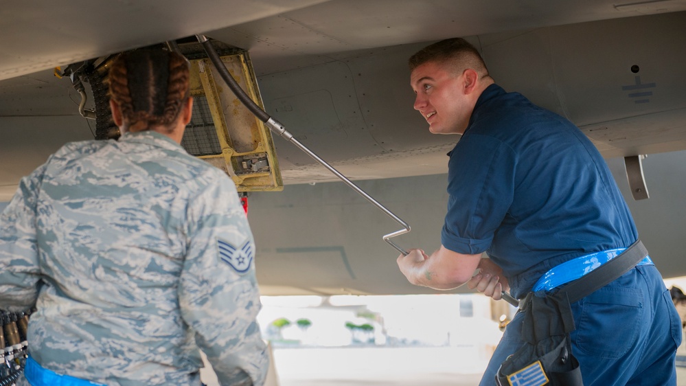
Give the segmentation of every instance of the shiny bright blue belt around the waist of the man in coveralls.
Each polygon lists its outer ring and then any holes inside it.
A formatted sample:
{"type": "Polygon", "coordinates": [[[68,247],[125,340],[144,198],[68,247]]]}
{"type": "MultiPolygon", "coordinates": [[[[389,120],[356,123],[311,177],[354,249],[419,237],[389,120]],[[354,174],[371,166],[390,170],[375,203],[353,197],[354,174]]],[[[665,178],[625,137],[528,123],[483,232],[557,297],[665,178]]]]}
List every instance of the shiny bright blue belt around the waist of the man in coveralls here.
{"type": "MultiPolygon", "coordinates": [[[[591,253],[589,255],[580,256],[567,262],[563,262],[558,266],[553,266],[550,271],[544,273],[538,282],[534,284],[534,292],[550,291],[553,288],[567,284],[573,280],[586,275],[596,269],[597,267],[613,260],[620,253],[624,252],[626,248],[608,249],[607,251],[600,251],[591,253]]],[[[654,265],[650,256],[645,256],[643,260],[636,265],[654,265]]]]}

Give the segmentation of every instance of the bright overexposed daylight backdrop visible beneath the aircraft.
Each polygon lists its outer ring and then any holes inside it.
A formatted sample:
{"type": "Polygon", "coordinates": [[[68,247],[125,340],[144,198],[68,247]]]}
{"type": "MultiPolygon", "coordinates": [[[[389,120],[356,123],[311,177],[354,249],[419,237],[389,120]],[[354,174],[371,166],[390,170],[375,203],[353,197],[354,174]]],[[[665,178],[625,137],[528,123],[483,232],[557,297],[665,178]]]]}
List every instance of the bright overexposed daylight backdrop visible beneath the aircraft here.
{"type": "MultiPolygon", "coordinates": [[[[665,280],[686,289],[686,277],[665,280]]],[[[262,297],[268,386],[477,385],[516,308],[480,294],[262,297]]],[[[678,354],[686,355],[686,345],[678,354]]],[[[208,386],[211,374],[205,370],[208,386]]],[[[677,369],[686,385],[686,367],[677,369]]]]}

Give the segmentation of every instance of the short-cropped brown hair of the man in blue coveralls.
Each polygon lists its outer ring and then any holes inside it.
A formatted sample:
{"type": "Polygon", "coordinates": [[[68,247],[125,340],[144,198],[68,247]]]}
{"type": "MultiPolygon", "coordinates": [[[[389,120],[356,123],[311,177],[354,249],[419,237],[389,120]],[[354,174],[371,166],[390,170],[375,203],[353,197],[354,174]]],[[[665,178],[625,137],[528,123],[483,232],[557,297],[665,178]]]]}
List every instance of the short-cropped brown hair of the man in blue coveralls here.
{"type": "Polygon", "coordinates": [[[459,67],[456,69],[474,69],[481,78],[488,76],[481,54],[463,38],[450,38],[424,47],[410,57],[410,71],[428,62],[450,63],[459,67]]]}

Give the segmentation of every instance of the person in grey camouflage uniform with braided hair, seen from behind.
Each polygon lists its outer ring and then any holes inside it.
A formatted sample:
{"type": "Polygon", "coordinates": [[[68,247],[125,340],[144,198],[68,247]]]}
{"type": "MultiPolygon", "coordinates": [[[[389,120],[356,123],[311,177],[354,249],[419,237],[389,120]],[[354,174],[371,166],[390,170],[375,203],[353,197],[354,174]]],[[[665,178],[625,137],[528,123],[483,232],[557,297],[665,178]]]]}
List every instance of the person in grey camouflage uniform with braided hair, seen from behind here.
{"type": "MultiPolygon", "coordinates": [[[[190,100],[183,57],[148,50],[120,60],[129,73],[168,68],[170,95],[181,77],[179,99],[190,100]]],[[[38,375],[200,385],[201,348],[222,385],[262,385],[255,246],[236,187],[172,132],[132,130],[159,128],[152,118],[162,114],[131,118],[111,78],[122,138],[62,147],[21,180],[0,218],[0,308],[36,307],[28,338],[38,375]]],[[[171,120],[182,133],[190,106],[171,120]]],[[[30,364],[29,381],[48,382],[32,379],[30,364]]]]}

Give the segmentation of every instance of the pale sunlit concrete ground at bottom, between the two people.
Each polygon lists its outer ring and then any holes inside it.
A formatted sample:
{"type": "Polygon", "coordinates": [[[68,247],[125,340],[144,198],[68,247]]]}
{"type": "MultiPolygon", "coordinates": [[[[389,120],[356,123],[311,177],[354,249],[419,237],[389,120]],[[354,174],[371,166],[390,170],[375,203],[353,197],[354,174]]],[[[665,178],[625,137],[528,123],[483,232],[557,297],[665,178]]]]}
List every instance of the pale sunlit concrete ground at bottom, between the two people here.
{"type": "MultiPolygon", "coordinates": [[[[475,386],[488,353],[474,348],[277,348],[266,386],[475,386]]],[[[203,380],[207,382],[208,374],[203,380]]],[[[216,378],[207,382],[216,386],[216,378]]],[[[677,367],[686,386],[686,367],[677,367]]]]}

